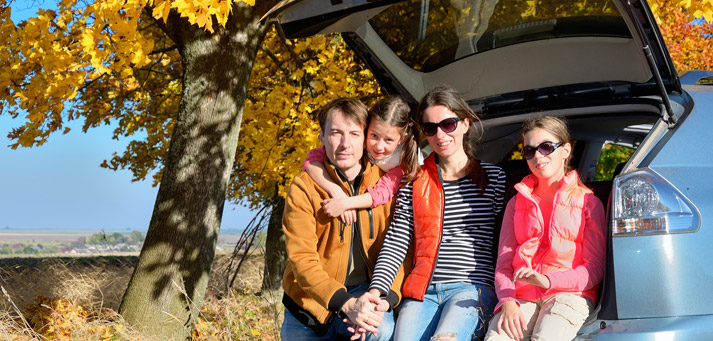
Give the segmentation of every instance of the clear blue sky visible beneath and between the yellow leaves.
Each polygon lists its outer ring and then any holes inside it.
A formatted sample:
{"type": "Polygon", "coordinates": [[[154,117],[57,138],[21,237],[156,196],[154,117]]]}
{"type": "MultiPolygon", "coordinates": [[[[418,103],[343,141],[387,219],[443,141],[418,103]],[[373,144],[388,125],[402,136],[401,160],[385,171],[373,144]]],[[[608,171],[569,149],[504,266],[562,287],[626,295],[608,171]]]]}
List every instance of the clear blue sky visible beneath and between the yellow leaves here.
{"type": "MultiPolygon", "coordinates": [[[[36,8],[15,1],[12,19],[17,24],[35,13],[36,8]]],[[[72,121],[66,135],[51,135],[40,147],[12,150],[7,134],[23,120],[22,115],[14,120],[0,115],[0,229],[148,228],[158,191],[150,177],[131,182],[128,170],[99,167],[112,153],[123,153],[129,139],[113,140],[112,126],[85,134],[82,121],[72,121]]],[[[221,228],[242,229],[252,216],[249,209],[226,203],[221,228]]]]}

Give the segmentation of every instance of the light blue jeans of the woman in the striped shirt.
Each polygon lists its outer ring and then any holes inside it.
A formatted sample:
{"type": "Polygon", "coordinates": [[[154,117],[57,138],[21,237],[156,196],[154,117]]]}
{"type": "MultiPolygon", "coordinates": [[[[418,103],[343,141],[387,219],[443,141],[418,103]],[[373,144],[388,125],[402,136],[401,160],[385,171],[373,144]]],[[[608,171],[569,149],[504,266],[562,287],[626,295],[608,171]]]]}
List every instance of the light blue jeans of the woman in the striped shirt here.
{"type": "Polygon", "coordinates": [[[423,302],[404,299],[396,320],[395,340],[425,340],[432,335],[470,341],[483,335],[497,303],[487,285],[436,283],[426,288],[423,302]]]}

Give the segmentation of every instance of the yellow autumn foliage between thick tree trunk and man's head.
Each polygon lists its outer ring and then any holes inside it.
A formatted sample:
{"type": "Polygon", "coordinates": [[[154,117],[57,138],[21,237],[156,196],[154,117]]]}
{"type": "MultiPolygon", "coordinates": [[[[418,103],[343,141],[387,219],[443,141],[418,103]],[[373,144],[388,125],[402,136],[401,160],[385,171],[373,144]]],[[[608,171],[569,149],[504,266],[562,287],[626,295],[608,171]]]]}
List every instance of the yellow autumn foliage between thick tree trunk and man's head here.
{"type": "Polygon", "coordinates": [[[336,97],[368,102],[379,87],[339,35],[284,41],[271,30],[249,93],[229,195],[256,207],[284,197],[307,152],[319,146],[319,108],[336,97]]]}

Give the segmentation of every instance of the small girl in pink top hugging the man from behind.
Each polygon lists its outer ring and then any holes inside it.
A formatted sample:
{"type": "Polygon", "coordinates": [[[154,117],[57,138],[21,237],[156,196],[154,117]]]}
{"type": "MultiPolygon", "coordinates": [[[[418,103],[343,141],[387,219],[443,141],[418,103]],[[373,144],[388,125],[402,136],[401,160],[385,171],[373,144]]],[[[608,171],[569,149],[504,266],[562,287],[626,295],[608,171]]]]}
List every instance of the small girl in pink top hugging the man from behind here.
{"type": "Polygon", "coordinates": [[[402,183],[411,181],[420,169],[417,130],[409,120],[410,107],[400,96],[379,100],[367,119],[366,150],[371,162],[386,172],[368,194],[347,196],[329,180],[322,162],[324,147],[310,150],[304,170],[332,199],[324,200],[324,210],[332,217],[341,217],[346,224],[356,220],[355,209],[385,204],[398,192],[402,183]]]}

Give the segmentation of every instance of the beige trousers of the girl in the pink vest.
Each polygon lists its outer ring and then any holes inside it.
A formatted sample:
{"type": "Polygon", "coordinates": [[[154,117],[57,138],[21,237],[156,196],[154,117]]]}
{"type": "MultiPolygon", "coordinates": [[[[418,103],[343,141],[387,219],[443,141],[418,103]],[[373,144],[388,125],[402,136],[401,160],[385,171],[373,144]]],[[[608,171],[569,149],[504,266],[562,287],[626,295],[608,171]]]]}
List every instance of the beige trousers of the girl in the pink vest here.
{"type": "MultiPolygon", "coordinates": [[[[555,294],[535,302],[518,301],[527,321],[523,340],[572,340],[594,309],[588,298],[567,293],[555,294]]],[[[486,341],[512,340],[505,332],[498,334],[500,314],[502,310],[490,320],[486,341]]]]}

